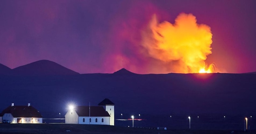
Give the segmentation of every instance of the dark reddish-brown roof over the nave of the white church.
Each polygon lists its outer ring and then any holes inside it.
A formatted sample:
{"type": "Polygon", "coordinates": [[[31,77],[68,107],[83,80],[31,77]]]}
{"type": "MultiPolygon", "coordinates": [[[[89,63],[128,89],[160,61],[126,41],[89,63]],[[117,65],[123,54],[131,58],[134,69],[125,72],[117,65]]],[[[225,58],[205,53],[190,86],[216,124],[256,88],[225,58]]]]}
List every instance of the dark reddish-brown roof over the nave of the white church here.
{"type": "MultiPolygon", "coordinates": [[[[89,106],[79,106],[75,108],[78,116],[89,116],[89,106]]],[[[110,117],[107,111],[101,106],[91,106],[90,116],[92,117],[110,117]]]]}

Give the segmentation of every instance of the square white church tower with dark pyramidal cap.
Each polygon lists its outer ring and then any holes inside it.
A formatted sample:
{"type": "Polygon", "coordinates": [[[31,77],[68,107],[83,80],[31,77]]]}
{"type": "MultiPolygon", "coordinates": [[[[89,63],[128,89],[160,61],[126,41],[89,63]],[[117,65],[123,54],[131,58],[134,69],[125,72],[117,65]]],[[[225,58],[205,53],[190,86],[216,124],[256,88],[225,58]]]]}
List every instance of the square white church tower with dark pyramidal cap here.
{"type": "Polygon", "coordinates": [[[110,115],[109,124],[115,125],[115,104],[109,100],[108,98],[102,100],[99,104],[99,106],[102,106],[110,115]]]}

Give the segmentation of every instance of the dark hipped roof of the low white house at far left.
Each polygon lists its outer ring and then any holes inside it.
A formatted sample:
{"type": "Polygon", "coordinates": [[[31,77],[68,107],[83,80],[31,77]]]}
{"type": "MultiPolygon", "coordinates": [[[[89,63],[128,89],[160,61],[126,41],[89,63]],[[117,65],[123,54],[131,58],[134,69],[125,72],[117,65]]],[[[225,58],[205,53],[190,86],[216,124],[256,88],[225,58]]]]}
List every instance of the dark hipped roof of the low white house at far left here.
{"type": "Polygon", "coordinates": [[[5,113],[12,114],[13,117],[36,117],[43,118],[43,116],[32,106],[9,106],[3,110],[0,116],[5,113]]]}

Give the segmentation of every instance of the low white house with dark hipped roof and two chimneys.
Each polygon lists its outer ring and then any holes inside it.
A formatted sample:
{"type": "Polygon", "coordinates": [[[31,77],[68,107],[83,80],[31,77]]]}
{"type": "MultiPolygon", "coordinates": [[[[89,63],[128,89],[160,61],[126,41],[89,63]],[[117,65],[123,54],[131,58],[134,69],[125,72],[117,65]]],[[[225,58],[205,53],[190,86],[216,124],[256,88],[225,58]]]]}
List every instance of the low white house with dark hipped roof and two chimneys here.
{"type": "Polygon", "coordinates": [[[43,116],[36,108],[30,106],[30,103],[28,106],[14,106],[12,103],[0,114],[0,121],[3,120],[9,120],[11,123],[42,123],[43,116]]]}

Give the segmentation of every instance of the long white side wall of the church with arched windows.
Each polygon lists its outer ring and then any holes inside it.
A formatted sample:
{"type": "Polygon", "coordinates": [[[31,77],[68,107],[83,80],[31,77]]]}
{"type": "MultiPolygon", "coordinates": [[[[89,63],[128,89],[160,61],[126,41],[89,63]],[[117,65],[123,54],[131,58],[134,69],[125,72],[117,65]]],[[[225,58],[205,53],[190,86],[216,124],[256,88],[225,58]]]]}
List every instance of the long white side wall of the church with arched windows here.
{"type": "Polygon", "coordinates": [[[78,123],[79,124],[109,125],[109,120],[110,120],[110,117],[82,117],[82,116],[80,116],[78,123]],[[91,118],[92,122],[89,123],[90,118],[91,118]],[[98,122],[95,122],[96,118],[98,119],[98,122]],[[103,118],[103,122],[101,121],[102,118],[103,118]],[[83,122],[83,119],[84,119],[84,122],[83,122]]]}

